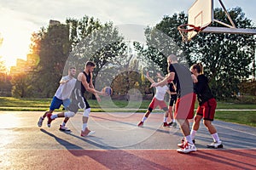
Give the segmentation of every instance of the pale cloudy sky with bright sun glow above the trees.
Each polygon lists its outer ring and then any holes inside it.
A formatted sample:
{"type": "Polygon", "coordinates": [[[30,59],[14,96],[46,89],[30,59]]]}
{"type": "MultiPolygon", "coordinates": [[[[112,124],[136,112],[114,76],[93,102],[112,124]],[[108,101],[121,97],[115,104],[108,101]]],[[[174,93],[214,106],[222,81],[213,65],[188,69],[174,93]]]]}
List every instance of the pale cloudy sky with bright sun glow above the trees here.
{"type": "MultiPolygon", "coordinates": [[[[241,7],[247,18],[256,23],[255,0],[222,0],[225,8],[241,7]]],[[[155,26],[165,15],[187,14],[195,0],[0,0],[1,60],[9,67],[16,59],[26,59],[32,32],[47,27],[49,20],[65,23],[67,18],[84,15],[113,25],[155,26]]],[[[220,7],[214,0],[214,8],[220,7]]]]}

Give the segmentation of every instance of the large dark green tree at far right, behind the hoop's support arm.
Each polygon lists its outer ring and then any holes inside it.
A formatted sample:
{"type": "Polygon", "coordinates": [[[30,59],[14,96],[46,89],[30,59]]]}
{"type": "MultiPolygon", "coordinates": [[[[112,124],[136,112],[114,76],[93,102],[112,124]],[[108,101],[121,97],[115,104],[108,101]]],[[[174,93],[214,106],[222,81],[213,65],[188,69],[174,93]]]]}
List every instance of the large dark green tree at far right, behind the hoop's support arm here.
{"type": "MultiPolygon", "coordinates": [[[[238,28],[253,28],[252,20],[245,17],[241,8],[230,9],[229,13],[238,28]]],[[[214,14],[216,18],[228,22],[221,8],[216,8],[214,14]]],[[[213,26],[219,25],[214,23],[213,26]]],[[[202,61],[212,92],[218,99],[237,94],[239,83],[252,74],[249,66],[255,55],[255,38],[252,35],[201,33],[189,43],[194,50],[189,53],[191,64],[202,61]]]]}

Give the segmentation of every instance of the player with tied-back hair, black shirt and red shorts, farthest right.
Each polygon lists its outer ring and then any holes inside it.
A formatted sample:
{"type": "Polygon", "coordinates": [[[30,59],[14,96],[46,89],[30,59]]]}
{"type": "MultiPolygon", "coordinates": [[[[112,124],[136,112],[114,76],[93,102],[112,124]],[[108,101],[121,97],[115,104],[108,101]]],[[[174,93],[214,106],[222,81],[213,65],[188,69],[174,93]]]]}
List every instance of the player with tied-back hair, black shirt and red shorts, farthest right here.
{"type": "Polygon", "coordinates": [[[195,133],[197,132],[200,126],[201,119],[203,118],[203,123],[207,127],[209,133],[212,134],[213,139],[213,143],[208,144],[207,147],[223,148],[223,144],[218,138],[217,130],[212,125],[217,102],[214,99],[211,89],[208,86],[207,77],[203,74],[203,66],[201,65],[201,63],[192,65],[190,71],[195,75],[195,77],[197,77],[198,80],[198,82],[195,83],[195,92],[197,94],[197,99],[199,102],[196,116],[194,117],[192,130],[190,132],[191,138],[195,139],[195,133]]]}

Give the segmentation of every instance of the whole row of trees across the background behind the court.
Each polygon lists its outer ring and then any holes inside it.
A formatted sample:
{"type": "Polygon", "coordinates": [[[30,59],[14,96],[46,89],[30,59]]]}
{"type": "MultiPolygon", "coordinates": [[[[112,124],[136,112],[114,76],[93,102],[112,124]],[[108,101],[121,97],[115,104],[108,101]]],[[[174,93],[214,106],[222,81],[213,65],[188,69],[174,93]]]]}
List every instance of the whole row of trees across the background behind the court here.
{"type": "MultiPolygon", "coordinates": [[[[229,13],[238,28],[255,29],[241,8],[232,8],[229,13]]],[[[227,20],[221,8],[215,8],[214,14],[227,20]]],[[[253,94],[247,84],[255,81],[247,79],[255,71],[255,37],[200,33],[193,41],[182,42],[177,26],[187,20],[183,12],[164,16],[156,26],[145,28],[146,43],[127,42],[112,22],[102,24],[86,15],[82,19],[68,18],[65,24],[43,27],[32,34],[31,54],[37,62],[31,71],[12,76],[12,95],[52,97],[61,76],[67,75],[67,68],[74,65],[77,71],[83,71],[88,59],[96,63],[94,83],[99,90],[111,86],[116,97],[126,96],[134,88],[143,95],[151,94],[154,92],[144,74],[150,71],[154,77],[161,72],[164,76],[167,54],[177,54],[187,66],[201,61],[217,99],[229,99],[245,89],[244,93],[253,94]]]]}

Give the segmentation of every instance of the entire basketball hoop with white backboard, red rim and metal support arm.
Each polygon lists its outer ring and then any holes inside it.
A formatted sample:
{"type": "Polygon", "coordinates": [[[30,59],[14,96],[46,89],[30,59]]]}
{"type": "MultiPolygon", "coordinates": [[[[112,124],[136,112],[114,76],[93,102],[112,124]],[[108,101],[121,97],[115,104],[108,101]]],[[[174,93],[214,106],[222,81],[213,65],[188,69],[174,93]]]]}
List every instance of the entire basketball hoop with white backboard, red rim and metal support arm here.
{"type": "Polygon", "coordinates": [[[183,42],[190,41],[200,32],[256,35],[256,29],[236,28],[222,0],[218,0],[218,3],[224,9],[230,24],[214,19],[213,0],[195,0],[188,11],[188,23],[177,27],[183,37],[183,42]],[[212,22],[217,22],[225,27],[210,26],[212,22]]]}

